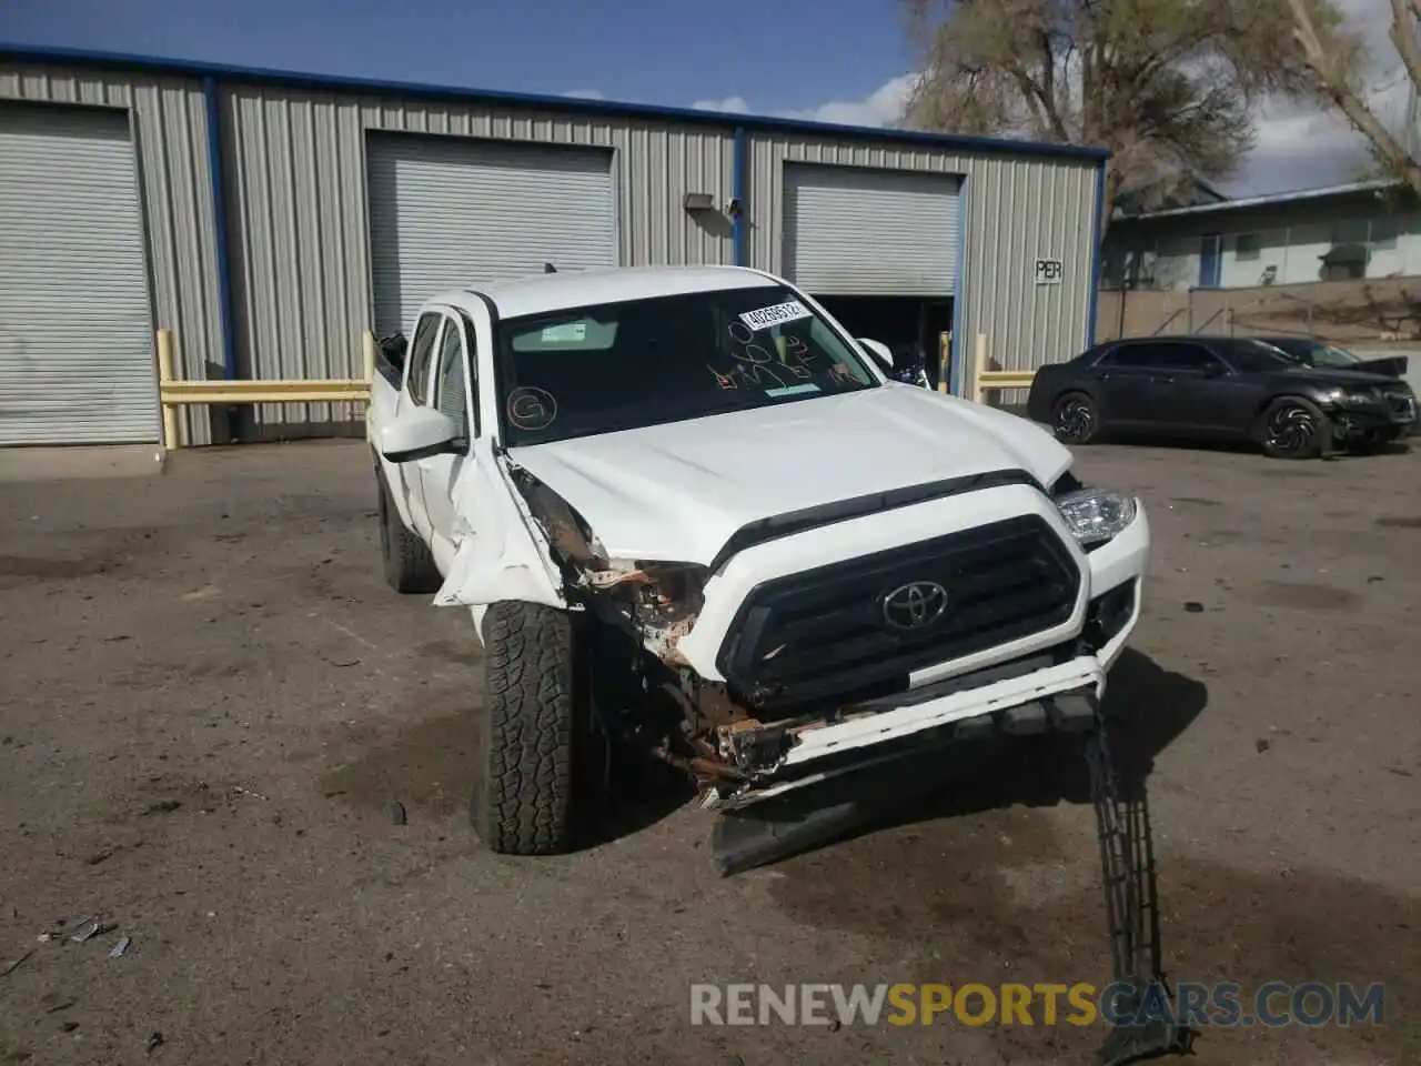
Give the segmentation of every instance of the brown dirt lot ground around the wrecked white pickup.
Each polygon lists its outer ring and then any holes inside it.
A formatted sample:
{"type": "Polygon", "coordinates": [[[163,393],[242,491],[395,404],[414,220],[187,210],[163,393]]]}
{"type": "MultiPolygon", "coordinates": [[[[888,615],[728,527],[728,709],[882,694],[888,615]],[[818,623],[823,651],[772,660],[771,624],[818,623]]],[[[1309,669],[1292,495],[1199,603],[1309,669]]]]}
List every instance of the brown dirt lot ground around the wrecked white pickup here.
{"type": "MultiPolygon", "coordinates": [[[[1384,1028],[1211,1030],[1196,1060],[1421,1060],[1421,451],[1080,469],[1154,523],[1111,699],[1148,722],[1171,978],[1387,985],[1384,1028]]],[[[463,813],[470,623],[381,584],[361,443],[0,485],[0,968],[34,952],[0,978],[0,1062],[979,1066],[1100,1043],[692,1028],[699,981],[1103,982],[1091,809],[1027,765],[735,878],[692,807],[495,857],[463,813]],[[36,942],[91,912],[118,928],[36,942]]]]}

